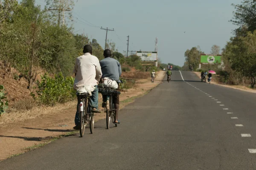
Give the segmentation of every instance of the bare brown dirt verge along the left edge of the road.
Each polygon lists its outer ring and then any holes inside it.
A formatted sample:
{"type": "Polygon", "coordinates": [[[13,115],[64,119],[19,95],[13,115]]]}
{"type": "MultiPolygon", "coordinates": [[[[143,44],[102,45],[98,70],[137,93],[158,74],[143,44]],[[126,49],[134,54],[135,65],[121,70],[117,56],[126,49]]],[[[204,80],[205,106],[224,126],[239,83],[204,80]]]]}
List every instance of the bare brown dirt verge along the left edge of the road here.
{"type": "MultiPolygon", "coordinates": [[[[159,85],[164,76],[165,71],[160,71],[154,83],[151,83],[150,76],[148,79],[138,80],[134,88],[120,95],[120,108],[159,85]]],[[[102,109],[101,99],[99,94],[99,109],[102,109]]],[[[4,114],[0,117],[0,161],[41,147],[61,135],[75,133],[75,113],[76,101],[55,107],[35,107],[30,111],[4,114]]],[[[96,121],[104,119],[105,114],[99,113],[95,118],[96,121]]],[[[89,130],[86,129],[85,133],[89,133],[89,130]]]]}

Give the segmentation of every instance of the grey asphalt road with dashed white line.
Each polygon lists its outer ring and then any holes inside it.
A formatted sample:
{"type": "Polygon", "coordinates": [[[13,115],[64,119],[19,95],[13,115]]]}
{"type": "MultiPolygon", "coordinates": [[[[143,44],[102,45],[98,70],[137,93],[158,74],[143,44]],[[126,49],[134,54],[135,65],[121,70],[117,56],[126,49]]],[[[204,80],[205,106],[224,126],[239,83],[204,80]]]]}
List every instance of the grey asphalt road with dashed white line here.
{"type": "Polygon", "coordinates": [[[170,83],[163,82],[122,109],[117,128],[106,130],[105,120],[99,121],[92,135],[87,129],[84,138],[60,139],[2,161],[0,169],[256,169],[256,153],[248,150],[256,149],[256,94],[181,73],[186,82],[173,71],[170,83]]]}

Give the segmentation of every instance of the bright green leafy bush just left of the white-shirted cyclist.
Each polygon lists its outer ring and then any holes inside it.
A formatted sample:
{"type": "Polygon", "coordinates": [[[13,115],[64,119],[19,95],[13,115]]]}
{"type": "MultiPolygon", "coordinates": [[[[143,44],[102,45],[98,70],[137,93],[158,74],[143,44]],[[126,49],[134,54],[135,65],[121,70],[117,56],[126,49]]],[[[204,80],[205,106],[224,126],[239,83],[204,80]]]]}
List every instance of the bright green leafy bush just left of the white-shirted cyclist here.
{"type": "Polygon", "coordinates": [[[64,103],[74,99],[76,91],[73,90],[74,78],[64,78],[61,73],[55,75],[54,78],[49,77],[48,74],[41,76],[41,82],[37,82],[38,94],[31,94],[41,104],[44,105],[55,105],[57,103],[64,103]]]}

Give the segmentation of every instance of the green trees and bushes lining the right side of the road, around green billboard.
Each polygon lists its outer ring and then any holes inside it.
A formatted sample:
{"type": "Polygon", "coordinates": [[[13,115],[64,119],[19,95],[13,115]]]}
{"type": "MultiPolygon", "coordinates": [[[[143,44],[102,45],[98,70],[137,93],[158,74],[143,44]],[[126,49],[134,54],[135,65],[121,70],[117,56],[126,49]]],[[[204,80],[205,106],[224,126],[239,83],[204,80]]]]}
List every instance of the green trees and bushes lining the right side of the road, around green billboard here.
{"type": "MultiPolygon", "coordinates": [[[[233,37],[222,49],[222,61],[215,65],[204,65],[202,70],[217,72],[218,80],[228,85],[248,85],[255,87],[256,83],[256,1],[243,0],[241,4],[232,4],[235,8],[231,23],[238,26],[233,31],[233,37]]],[[[218,45],[212,46],[212,54],[220,54],[218,45]]],[[[200,62],[200,47],[193,47],[185,52],[186,62],[182,69],[189,70],[191,64],[195,70],[200,62]]],[[[198,71],[202,71],[198,70],[198,71]]]]}

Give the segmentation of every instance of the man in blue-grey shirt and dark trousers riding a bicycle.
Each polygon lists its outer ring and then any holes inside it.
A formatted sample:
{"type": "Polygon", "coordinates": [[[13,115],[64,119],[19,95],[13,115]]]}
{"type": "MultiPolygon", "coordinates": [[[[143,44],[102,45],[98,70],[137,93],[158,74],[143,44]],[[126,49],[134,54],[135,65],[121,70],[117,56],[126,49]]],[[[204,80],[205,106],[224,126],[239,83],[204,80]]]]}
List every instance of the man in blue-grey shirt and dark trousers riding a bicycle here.
{"type": "MultiPolygon", "coordinates": [[[[115,80],[119,84],[121,82],[119,80],[119,77],[122,74],[120,63],[116,59],[111,58],[111,51],[109,49],[106,49],[103,55],[105,59],[102,59],[99,62],[102,69],[102,78],[108,77],[110,79],[115,80]]],[[[105,96],[102,96],[102,97],[103,97],[102,107],[104,107],[104,102],[106,101],[106,99],[105,99],[105,96]]],[[[116,119],[114,123],[120,123],[120,120],[118,119],[119,94],[113,95],[112,99],[113,99],[114,107],[116,109],[116,119]]]]}

